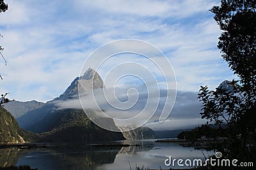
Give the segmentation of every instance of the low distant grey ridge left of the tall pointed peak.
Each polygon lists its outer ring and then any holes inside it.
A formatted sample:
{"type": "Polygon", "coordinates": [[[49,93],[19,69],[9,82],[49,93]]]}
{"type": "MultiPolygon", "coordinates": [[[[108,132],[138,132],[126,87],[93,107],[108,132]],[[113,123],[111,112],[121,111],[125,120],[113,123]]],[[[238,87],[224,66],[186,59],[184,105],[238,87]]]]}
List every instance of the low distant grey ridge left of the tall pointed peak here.
{"type": "Polygon", "coordinates": [[[22,115],[25,115],[27,112],[41,108],[45,103],[38,101],[12,101],[9,103],[4,103],[4,108],[12,113],[13,117],[19,118],[22,115]]]}

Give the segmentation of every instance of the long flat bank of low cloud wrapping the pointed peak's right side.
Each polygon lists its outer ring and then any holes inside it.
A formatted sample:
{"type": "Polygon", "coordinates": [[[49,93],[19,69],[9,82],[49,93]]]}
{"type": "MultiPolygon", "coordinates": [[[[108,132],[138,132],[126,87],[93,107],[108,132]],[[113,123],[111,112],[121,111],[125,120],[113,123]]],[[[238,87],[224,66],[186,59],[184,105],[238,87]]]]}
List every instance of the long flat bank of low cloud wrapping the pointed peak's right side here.
{"type": "MultiPolygon", "coordinates": [[[[105,90],[108,91],[111,89],[105,90]]],[[[122,91],[122,89],[118,90],[122,91]]],[[[126,101],[128,98],[126,92],[123,92],[123,95],[118,96],[120,101],[126,101]]],[[[160,97],[157,95],[157,92],[156,94],[152,95],[153,97],[151,96],[150,101],[148,101],[149,103],[147,108],[145,108],[145,104],[147,103],[147,94],[145,92],[138,92],[138,101],[129,110],[118,110],[114,108],[113,106],[118,105],[115,96],[108,98],[108,102],[111,103],[112,106],[109,105],[104,97],[104,94],[102,94],[102,89],[93,90],[93,94],[84,94],[83,103],[85,103],[84,105],[86,105],[86,108],[93,110],[104,110],[104,112],[107,113],[110,117],[129,118],[137,115],[143,109],[145,109],[148,114],[154,113],[156,109],[154,108],[154,105],[159,101],[156,113],[147,123],[148,126],[154,129],[178,129],[180,127],[195,127],[196,125],[200,125],[205,122],[200,118],[201,104],[197,99],[197,93],[178,91],[172,112],[165,120],[165,122],[159,123],[159,116],[165,104],[166,92],[166,90],[161,90],[160,97]],[[97,104],[95,103],[94,97],[97,99],[97,104]]],[[[131,92],[129,93],[129,98],[136,98],[138,94],[137,92],[131,92]]],[[[58,109],[81,108],[80,100],[77,97],[65,101],[56,101],[55,105],[58,107],[58,109]]],[[[127,105],[129,105],[129,103],[127,103],[127,105]]]]}

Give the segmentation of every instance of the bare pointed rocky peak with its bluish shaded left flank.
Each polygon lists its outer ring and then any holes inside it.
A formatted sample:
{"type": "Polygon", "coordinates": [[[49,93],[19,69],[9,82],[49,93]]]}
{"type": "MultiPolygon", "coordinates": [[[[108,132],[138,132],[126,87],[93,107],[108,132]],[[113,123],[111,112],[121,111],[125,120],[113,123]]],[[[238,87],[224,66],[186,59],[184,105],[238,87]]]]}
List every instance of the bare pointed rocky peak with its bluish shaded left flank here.
{"type": "Polygon", "coordinates": [[[61,118],[65,116],[68,110],[60,110],[56,106],[59,101],[78,98],[78,84],[83,84],[84,89],[92,90],[104,87],[99,74],[89,68],[83,76],[77,77],[60,97],[47,102],[42,108],[29,111],[26,115],[17,118],[17,122],[22,129],[27,131],[41,133],[51,131],[61,124],[61,118]],[[94,78],[93,78],[94,75],[94,78]],[[93,87],[92,87],[93,83],[93,87]]]}

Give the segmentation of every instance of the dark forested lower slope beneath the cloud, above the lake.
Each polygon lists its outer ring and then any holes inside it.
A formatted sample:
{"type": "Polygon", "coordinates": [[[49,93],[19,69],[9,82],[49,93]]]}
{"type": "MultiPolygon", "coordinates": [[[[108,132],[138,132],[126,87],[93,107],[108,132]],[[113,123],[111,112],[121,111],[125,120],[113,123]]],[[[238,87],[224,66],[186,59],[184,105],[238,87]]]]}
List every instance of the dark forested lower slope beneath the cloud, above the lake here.
{"type": "MultiPolygon", "coordinates": [[[[93,124],[83,110],[68,109],[64,112],[65,115],[61,118],[60,124],[51,131],[40,134],[40,141],[76,141],[84,143],[125,139],[120,132],[106,131],[93,124]]],[[[115,128],[112,119],[104,119],[115,128]]]]}

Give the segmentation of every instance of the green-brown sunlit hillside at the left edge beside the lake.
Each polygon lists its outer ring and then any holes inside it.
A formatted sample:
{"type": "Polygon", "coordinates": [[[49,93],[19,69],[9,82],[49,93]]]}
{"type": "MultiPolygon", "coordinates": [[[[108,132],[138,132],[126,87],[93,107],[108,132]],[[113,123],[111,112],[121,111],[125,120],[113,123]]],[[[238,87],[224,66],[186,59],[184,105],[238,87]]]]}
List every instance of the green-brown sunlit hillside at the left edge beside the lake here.
{"type": "Polygon", "coordinates": [[[33,141],[36,135],[20,129],[13,115],[0,106],[0,143],[33,141]]]}

